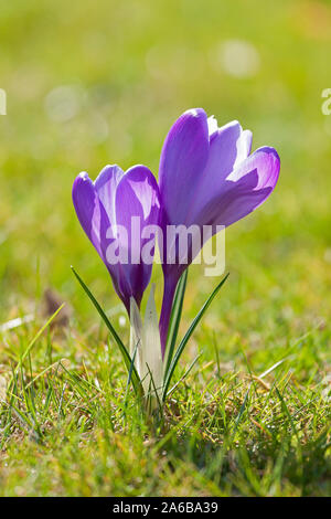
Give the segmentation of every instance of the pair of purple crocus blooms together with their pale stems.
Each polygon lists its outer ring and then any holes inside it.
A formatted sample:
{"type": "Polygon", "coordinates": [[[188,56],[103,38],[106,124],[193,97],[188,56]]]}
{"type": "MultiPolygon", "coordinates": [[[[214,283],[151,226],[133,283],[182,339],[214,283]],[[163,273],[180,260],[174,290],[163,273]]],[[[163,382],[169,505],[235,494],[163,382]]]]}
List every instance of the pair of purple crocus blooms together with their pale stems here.
{"type": "MultiPolygon", "coordinates": [[[[75,179],[74,206],[130,316],[131,356],[135,356],[141,380],[149,379],[150,374],[157,385],[164,383],[175,293],[180,278],[197,253],[191,239],[185,261],[181,261],[178,235],[166,240],[167,227],[194,225],[202,230],[209,226],[211,236],[220,225],[227,227],[258,208],[277,183],[280,161],[274,148],[263,147],[253,153],[250,150],[252,133],[243,130],[239,123],[218,127],[214,117],[195,108],[174,123],[164,140],[159,182],[141,165],[126,172],[118,166],[106,166],[94,182],[86,172],[75,179]],[[132,219],[139,221],[142,236],[139,240],[132,219]],[[119,227],[126,230],[126,240],[121,239],[119,227]],[[153,227],[163,232],[151,236],[153,227]],[[158,319],[152,295],[143,325],[140,318],[140,304],[152,269],[152,262],[145,260],[143,250],[148,247],[152,257],[156,240],[162,251],[164,278],[159,332],[156,331],[158,319]],[[109,254],[116,251],[118,261],[108,261],[109,254]],[[121,260],[124,257],[126,261],[121,260]],[[167,261],[169,257],[171,261],[167,261]]],[[[201,240],[197,248],[203,244],[201,240]]],[[[146,392],[146,383],[143,388],[146,392]]]]}

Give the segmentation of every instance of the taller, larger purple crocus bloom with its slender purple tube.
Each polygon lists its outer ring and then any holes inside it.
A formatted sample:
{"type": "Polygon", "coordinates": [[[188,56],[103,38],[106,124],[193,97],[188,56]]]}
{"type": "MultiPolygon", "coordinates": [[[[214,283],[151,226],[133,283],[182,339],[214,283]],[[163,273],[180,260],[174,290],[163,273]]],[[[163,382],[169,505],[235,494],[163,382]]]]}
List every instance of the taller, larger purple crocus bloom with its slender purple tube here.
{"type": "MultiPolygon", "coordinates": [[[[236,120],[218,128],[214,117],[207,118],[202,108],[185,112],[174,123],[159,169],[163,258],[167,225],[228,226],[269,197],[278,180],[278,153],[263,147],[249,155],[250,148],[249,130],[243,130],[236,120]]],[[[193,255],[189,254],[189,263],[193,255]]],[[[162,267],[160,335],[164,356],[175,287],[188,264],[163,260],[162,267]]]]}

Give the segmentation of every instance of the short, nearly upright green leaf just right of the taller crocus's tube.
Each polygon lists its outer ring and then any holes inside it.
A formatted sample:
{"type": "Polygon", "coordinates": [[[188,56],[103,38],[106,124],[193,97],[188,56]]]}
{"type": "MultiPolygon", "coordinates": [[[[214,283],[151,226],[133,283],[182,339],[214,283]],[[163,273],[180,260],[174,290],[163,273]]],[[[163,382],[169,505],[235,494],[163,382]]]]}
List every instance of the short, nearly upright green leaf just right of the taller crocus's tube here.
{"type": "Polygon", "coordinates": [[[183,309],[183,301],[184,301],[186,282],[188,282],[188,273],[189,273],[189,268],[186,268],[186,271],[182,274],[178,283],[175,294],[174,294],[168,339],[167,339],[167,347],[166,347],[166,352],[167,352],[166,353],[167,361],[166,361],[166,370],[164,370],[166,377],[167,377],[167,373],[168,373],[168,370],[172,360],[173,351],[175,348],[175,341],[177,341],[179,325],[181,321],[182,309],[183,309]]]}

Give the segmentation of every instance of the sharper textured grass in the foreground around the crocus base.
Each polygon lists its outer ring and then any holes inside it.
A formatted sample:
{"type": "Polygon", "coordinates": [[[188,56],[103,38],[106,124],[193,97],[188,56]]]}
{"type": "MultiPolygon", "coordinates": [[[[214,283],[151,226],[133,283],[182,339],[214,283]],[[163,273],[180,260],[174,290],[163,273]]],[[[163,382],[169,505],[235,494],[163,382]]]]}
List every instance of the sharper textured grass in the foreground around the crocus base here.
{"type": "Polygon", "coordinates": [[[244,352],[246,370],[204,361],[154,424],[134,395],[125,409],[126,375],[106,330],[67,337],[65,359],[61,339],[44,337],[7,373],[1,495],[328,495],[328,382],[300,381],[317,337],[279,349],[266,374],[244,352]]]}

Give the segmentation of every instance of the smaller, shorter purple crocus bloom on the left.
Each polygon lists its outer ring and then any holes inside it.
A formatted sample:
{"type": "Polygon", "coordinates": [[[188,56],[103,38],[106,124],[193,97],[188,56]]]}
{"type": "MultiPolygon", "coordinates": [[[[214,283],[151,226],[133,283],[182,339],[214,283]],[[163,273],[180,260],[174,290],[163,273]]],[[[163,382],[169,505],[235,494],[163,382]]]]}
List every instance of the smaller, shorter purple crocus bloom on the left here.
{"type": "Polygon", "coordinates": [[[152,264],[141,260],[143,245],[150,240],[139,237],[145,226],[157,225],[159,221],[159,188],[154,177],[145,166],[134,166],[126,172],[118,166],[106,166],[95,182],[83,172],[74,181],[73,202],[82,227],[108,268],[129,314],[130,297],[140,307],[151,276],[152,264]],[[139,235],[131,227],[132,216],[139,222],[139,235]],[[119,226],[126,230],[125,236],[118,235],[119,226]],[[113,256],[116,247],[121,252],[117,263],[109,262],[111,246],[113,256]]]}

